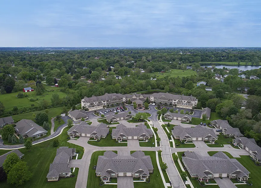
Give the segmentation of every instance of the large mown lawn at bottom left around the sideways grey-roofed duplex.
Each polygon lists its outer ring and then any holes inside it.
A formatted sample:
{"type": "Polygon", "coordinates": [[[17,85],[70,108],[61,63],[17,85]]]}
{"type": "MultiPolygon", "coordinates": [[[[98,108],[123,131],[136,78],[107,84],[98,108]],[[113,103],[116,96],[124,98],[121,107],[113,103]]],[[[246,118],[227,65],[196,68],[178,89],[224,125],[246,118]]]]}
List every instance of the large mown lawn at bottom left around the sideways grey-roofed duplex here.
{"type": "MultiPolygon", "coordinates": [[[[63,130],[63,133],[56,137],[59,140],[60,146],[69,146],[70,148],[76,148],[76,151],[80,151],[78,159],[82,158],[83,148],[70,144],[67,141],[69,139],[67,135],[67,130],[69,127],[66,127],[63,130]]],[[[58,148],[58,147],[57,147],[58,148]]],[[[50,187],[59,187],[59,188],[71,188],[75,186],[76,177],[62,178],[57,182],[47,182],[47,174],[49,171],[50,163],[53,162],[53,159],[56,155],[56,147],[53,147],[53,139],[40,144],[33,145],[31,151],[28,152],[25,148],[19,149],[24,154],[23,161],[27,162],[29,170],[33,173],[33,177],[24,183],[18,188],[28,188],[28,187],[37,187],[37,188],[50,188],[50,187]],[[47,152],[48,151],[48,152],[47,152]]],[[[8,150],[0,150],[0,155],[8,152],[8,150]]],[[[78,169],[76,173],[78,172],[78,169]]],[[[6,181],[0,182],[1,188],[11,188],[13,185],[7,184],[6,181]]]]}

